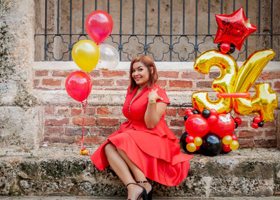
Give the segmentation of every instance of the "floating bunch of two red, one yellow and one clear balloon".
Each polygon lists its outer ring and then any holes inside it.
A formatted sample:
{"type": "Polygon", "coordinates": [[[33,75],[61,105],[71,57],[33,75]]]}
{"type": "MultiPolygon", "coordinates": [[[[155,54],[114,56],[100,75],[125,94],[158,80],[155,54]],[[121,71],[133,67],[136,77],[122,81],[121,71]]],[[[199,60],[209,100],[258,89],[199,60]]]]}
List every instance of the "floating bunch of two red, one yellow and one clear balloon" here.
{"type": "Polygon", "coordinates": [[[83,103],[92,90],[92,80],[88,73],[97,64],[101,67],[108,65],[117,66],[119,57],[118,51],[108,44],[99,45],[111,34],[113,20],[109,13],[103,10],[95,10],[87,16],[85,29],[92,38],[90,40],[78,41],[73,45],[73,61],[82,71],[74,71],[66,78],[65,88],[70,97],[83,103]]]}

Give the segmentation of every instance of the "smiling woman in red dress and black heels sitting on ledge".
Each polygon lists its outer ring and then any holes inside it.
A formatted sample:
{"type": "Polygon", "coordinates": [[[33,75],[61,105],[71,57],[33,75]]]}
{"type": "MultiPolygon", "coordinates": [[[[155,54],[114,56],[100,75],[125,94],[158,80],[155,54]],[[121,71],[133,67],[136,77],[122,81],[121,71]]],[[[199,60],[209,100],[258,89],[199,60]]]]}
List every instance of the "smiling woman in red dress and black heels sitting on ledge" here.
{"type": "Polygon", "coordinates": [[[152,199],[152,185],[179,185],[188,175],[192,156],[180,152],[179,140],[167,127],[165,90],[155,85],[152,59],[140,56],[130,64],[130,87],[123,105],[127,117],[90,157],[97,169],[111,166],[127,187],[127,199],[152,199]]]}

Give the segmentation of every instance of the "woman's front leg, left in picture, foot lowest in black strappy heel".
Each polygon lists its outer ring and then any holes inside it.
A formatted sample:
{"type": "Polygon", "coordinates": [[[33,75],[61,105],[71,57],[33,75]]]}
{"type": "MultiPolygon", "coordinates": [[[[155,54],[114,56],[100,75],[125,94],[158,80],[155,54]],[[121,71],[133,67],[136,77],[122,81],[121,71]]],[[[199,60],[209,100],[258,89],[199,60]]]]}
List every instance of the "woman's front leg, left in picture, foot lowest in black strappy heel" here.
{"type": "MultiPolygon", "coordinates": [[[[122,180],[125,185],[127,185],[128,183],[135,183],[135,180],[132,177],[127,163],[125,162],[123,157],[120,156],[116,147],[109,143],[105,146],[104,150],[111,168],[113,169],[113,171],[115,171],[120,180],[122,180]]],[[[127,187],[127,190],[127,199],[136,199],[136,197],[138,197],[139,194],[143,192],[143,189],[141,187],[134,184],[130,184],[127,187]]]]}

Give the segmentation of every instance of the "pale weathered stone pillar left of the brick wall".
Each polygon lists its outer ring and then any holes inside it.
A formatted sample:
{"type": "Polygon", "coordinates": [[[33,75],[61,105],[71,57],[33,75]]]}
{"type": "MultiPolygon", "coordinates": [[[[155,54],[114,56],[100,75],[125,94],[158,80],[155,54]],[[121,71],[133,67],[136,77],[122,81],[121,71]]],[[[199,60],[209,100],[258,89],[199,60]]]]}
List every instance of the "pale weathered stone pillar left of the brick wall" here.
{"type": "Polygon", "coordinates": [[[0,146],[38,147],[38,100],[31,94],[34,1],[0,1],[0,146]]]}

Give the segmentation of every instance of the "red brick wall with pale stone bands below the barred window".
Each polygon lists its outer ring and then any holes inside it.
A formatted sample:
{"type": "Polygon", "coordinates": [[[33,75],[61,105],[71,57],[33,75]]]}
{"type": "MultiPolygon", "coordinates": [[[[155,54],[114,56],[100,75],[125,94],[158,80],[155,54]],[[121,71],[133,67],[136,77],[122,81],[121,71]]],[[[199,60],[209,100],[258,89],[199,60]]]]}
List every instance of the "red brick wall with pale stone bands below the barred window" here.
{"type": "MultiPolygon", "coordinates": [[[[166,121],[178,137],[184,131],[184,110],[191,107],[191,94],[209,91],[211,83],[219,76],[217,70],[209,75],[193,70],[193,62],[160,62],[158,85],[167,91],[172,104],[167,107],[166,121]]],[[[241,64],[239,63],[239,66],[241,64]]],[[[269,62],[258,83],[269,83],[272,90],[280,93],[280,64],[269,62]]],[[[33,83],[34,94],[41,97],[42,120],[44,124],[42,143],[48,145],[76,145],[82,134],[84,118],[84,144],[99,145],[106,137],[125,122],[122,106],[129,84],[129,63],[122,62],[117,69],[94,69],[92,92],[85,113],[80,103],[66,94],[66,77],[78,67],[73,62],[35,62],[33,83]]],[[[278,110],[274,111],[275,113],[278,110]]],[[[235,113],[232,113],[235,115],[235,113]]],[[[241,147],[275,147],[276,122],[266,122],[259,129],[251,128],[255,115],[240,115],[242,124],[235,129],[241,147]]],[[[276,119],[279,120],[279,119],[276,119]]]]}

